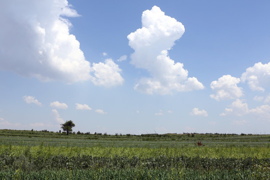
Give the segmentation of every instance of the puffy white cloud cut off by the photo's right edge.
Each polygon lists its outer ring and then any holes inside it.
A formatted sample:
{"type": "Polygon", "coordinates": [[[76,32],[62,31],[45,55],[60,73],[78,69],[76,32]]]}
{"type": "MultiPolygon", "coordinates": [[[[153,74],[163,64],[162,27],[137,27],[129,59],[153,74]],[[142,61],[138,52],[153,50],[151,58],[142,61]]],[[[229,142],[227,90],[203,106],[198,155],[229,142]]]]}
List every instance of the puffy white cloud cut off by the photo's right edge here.
{"type": "Polygon", "coordinates": [[[270,85],[270,62],[262,64],[255,63],[252,67],[248,67],[241,75],[241,81],[247,81],[251,90],[264,91],[265,86],[270,85]]]}

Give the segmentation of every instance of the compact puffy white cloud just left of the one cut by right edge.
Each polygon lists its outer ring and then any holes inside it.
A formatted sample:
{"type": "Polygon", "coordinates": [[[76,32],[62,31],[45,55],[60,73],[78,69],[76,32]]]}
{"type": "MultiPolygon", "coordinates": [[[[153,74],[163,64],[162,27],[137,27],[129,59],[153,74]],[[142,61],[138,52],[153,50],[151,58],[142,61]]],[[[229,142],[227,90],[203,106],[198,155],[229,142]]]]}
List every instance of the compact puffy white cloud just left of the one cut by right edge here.
{"type": "Polygon", "coordinates": [[[215,100],[235,99],[243,95],[242,88],[237,86],[240,78],[231,75],[223,75],[218,80],[211,82],[210,87],[214,91],[210,97],[215,100]]]}

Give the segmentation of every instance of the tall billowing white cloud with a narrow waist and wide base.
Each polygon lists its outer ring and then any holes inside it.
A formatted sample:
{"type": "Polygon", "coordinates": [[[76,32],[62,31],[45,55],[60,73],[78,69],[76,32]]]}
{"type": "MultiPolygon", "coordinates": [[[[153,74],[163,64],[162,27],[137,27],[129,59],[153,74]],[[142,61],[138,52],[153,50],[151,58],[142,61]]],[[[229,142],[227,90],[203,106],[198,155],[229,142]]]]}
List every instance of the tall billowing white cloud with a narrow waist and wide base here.
{"type": "Polygon", "coordinates": [[[134,88],[148,94],[203,89],[195,77],[187,77],[182,63],[175,63],[168,56],[174,41],[184,33],[182,23],[165,15],[157,6],[143,11],[141,22],[142,27],[127,36],[128,45],[134,49],[130,63],[148,70],[151,77],[140,78],[134,88]]]}

